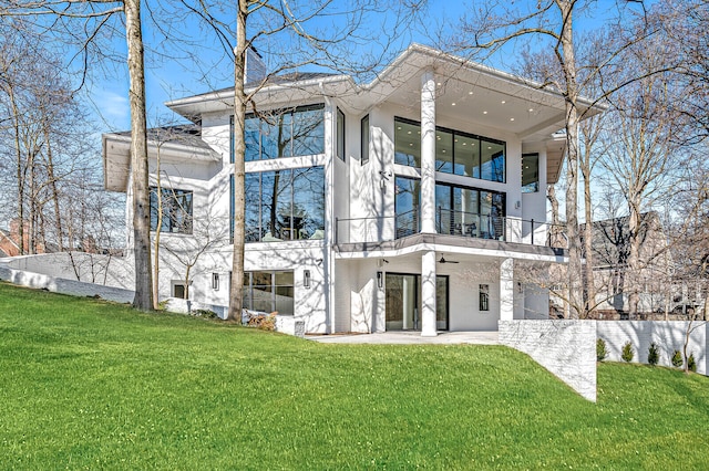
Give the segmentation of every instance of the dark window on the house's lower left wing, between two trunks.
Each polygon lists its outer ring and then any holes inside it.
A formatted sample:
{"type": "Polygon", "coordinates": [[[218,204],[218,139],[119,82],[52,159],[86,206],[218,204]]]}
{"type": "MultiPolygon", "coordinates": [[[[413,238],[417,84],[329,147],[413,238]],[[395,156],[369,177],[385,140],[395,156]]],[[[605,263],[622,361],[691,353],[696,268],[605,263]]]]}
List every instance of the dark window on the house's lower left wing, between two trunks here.
{"type": "Polygon", "coordinates": [[[161,188],[160,201],[157,188],[151,187],[151,230],[161,232],[192,233],[192,191],[176,188],[161,188]],[[163,218],[160,219],[160,207],[163,218]]]}

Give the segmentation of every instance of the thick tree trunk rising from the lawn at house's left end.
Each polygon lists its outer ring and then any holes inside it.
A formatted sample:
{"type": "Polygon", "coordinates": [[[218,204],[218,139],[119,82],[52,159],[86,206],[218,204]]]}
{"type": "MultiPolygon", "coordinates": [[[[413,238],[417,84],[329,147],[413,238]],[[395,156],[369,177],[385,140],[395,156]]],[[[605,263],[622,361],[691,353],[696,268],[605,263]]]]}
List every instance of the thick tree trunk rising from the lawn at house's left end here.
{"type": "Polygon", "coordinates": [[[131,103],[131,175],[133,184],[133,245],[135,254],[135,299],[133,306],[153,308],[151,273],[151,213],[147,176],[147,126],[145,123],[145,69],[141,1],[124,0],[125,33],[129,48],[131,103]]]}

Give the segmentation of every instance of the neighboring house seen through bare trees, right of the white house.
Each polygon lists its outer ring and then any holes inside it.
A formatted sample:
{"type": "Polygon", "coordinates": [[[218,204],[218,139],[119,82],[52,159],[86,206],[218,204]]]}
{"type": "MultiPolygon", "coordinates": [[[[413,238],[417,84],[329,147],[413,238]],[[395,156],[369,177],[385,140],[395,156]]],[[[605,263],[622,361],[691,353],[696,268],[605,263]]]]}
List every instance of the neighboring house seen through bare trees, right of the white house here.
{"type": "Polygon", "coordinates": [[[637,311],[640,318],[658,314],[662,317],[672,310],[674,292],[677,291],[667,236],[656,212],[640,214],[639,268],[634,272],[628,265],[628,217],[621,217],[593,222],[597,314],[603,318],[627,318],[629,293],[636,291],[639,294],[637,311]]]}

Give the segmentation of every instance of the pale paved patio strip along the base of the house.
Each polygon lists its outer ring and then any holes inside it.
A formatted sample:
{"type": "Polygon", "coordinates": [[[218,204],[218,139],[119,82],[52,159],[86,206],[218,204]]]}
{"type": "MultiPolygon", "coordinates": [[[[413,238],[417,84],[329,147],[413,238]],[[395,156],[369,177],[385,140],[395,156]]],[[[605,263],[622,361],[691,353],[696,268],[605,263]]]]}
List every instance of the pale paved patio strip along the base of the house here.
{"type": "Polygon", "coordinates": [[[440,332],[435,337],[422,337],[420,332],[382,332],[380,334],[307,335],[306,338],[323,344],[475,344],[499,345],[497,331],[440,332]]]}

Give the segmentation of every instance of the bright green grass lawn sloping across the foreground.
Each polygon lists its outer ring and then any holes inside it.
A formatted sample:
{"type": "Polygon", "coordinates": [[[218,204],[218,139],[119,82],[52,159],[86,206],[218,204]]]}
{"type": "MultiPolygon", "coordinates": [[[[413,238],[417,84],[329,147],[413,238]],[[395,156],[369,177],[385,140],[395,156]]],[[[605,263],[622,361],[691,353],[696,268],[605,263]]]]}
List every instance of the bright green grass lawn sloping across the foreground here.
{"type": "Polygon", "coordinates": [[[0,469],[706,469],[709,379],[323,345],[0,284],[0,469]]]}

